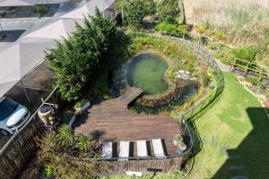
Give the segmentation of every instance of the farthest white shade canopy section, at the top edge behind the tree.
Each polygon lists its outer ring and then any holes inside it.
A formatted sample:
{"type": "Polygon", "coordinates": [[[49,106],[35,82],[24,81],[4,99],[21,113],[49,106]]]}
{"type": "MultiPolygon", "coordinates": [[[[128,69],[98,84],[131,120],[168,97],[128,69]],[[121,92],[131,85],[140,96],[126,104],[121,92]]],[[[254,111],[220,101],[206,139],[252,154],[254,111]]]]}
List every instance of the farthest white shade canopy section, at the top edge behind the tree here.
{"type": "Polygon", "coordinates": [[[95,7],[98,7],[100,12],[108,9],[112,4],[115,3],[115,0],[91,0],[89,3],[82,5],[81,7],[74,9],[70,13],[65,13],[62,15],[62,18],[71,18],[71,19],[84,19],[84,16],[95,14],[95,7]],[[103,4],[102,4],[103,3],[103,4]]]}

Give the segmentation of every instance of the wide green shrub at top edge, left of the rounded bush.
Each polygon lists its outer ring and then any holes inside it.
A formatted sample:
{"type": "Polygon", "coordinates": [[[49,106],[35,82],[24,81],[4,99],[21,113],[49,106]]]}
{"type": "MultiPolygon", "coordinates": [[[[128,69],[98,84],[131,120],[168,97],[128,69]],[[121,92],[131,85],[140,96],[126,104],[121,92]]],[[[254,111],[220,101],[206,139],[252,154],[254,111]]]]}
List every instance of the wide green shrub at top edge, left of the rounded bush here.
{"type": "Polygon", "coordinates": [[[124,11],[125,23],[139,27],[143,18],[156,13],[155,3],[152,0],[121,0],[117,2],[117,10],[124,11]]]}

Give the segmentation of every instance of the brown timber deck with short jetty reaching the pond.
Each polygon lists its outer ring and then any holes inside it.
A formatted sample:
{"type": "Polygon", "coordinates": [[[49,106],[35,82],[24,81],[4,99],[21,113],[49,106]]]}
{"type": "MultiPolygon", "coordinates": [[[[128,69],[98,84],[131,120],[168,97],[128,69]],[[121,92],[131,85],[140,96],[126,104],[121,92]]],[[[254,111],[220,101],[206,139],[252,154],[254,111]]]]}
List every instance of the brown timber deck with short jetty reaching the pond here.
{"type": "Polygon", "coordinates": [[[173,135],[181,132],[174,119],[164,115],[135,115],[129,112],[127,105],[142,93],[142,90],[131,88],[119,98],[94,105],[88,109],[88,114],[76,119],[74,133],[87,136],[91,136],[91,132],[102,133],[101,139],[114,141],[162,139],[168,154],[176,154],[173,135]]]}

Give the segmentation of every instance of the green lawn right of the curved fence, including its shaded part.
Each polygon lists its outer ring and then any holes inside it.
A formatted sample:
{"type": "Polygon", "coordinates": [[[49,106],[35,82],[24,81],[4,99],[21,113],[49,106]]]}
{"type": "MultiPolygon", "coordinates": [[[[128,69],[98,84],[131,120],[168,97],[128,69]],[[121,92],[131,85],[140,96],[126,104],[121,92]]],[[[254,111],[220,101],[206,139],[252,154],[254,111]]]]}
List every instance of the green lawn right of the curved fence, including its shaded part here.
{"type": "MultiPolygon", "coordinates": [[[[225,89],[221,98],[195,120],[204,144],[196,154],[195,166],[187,178],[266,178],[269,175],[269,121],[265,110],[233,74],[224,72],[223,75],[225,89]]],[[[180,176],[169,174],[152,178],[180,176]]]]}

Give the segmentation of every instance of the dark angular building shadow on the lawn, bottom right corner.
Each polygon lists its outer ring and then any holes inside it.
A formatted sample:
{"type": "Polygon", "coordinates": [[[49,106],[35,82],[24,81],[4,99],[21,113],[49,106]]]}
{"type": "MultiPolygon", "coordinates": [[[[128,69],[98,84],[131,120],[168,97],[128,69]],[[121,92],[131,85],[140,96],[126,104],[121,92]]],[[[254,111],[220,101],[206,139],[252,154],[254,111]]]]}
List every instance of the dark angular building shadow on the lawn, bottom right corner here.
{"type": "Polygon", "coordinates": [[[253,129],[238,148],[228,149],[228,158],[213,176],[219,178],[268,178],[269,120],[263,107],[248,107],[253,129]]]}

